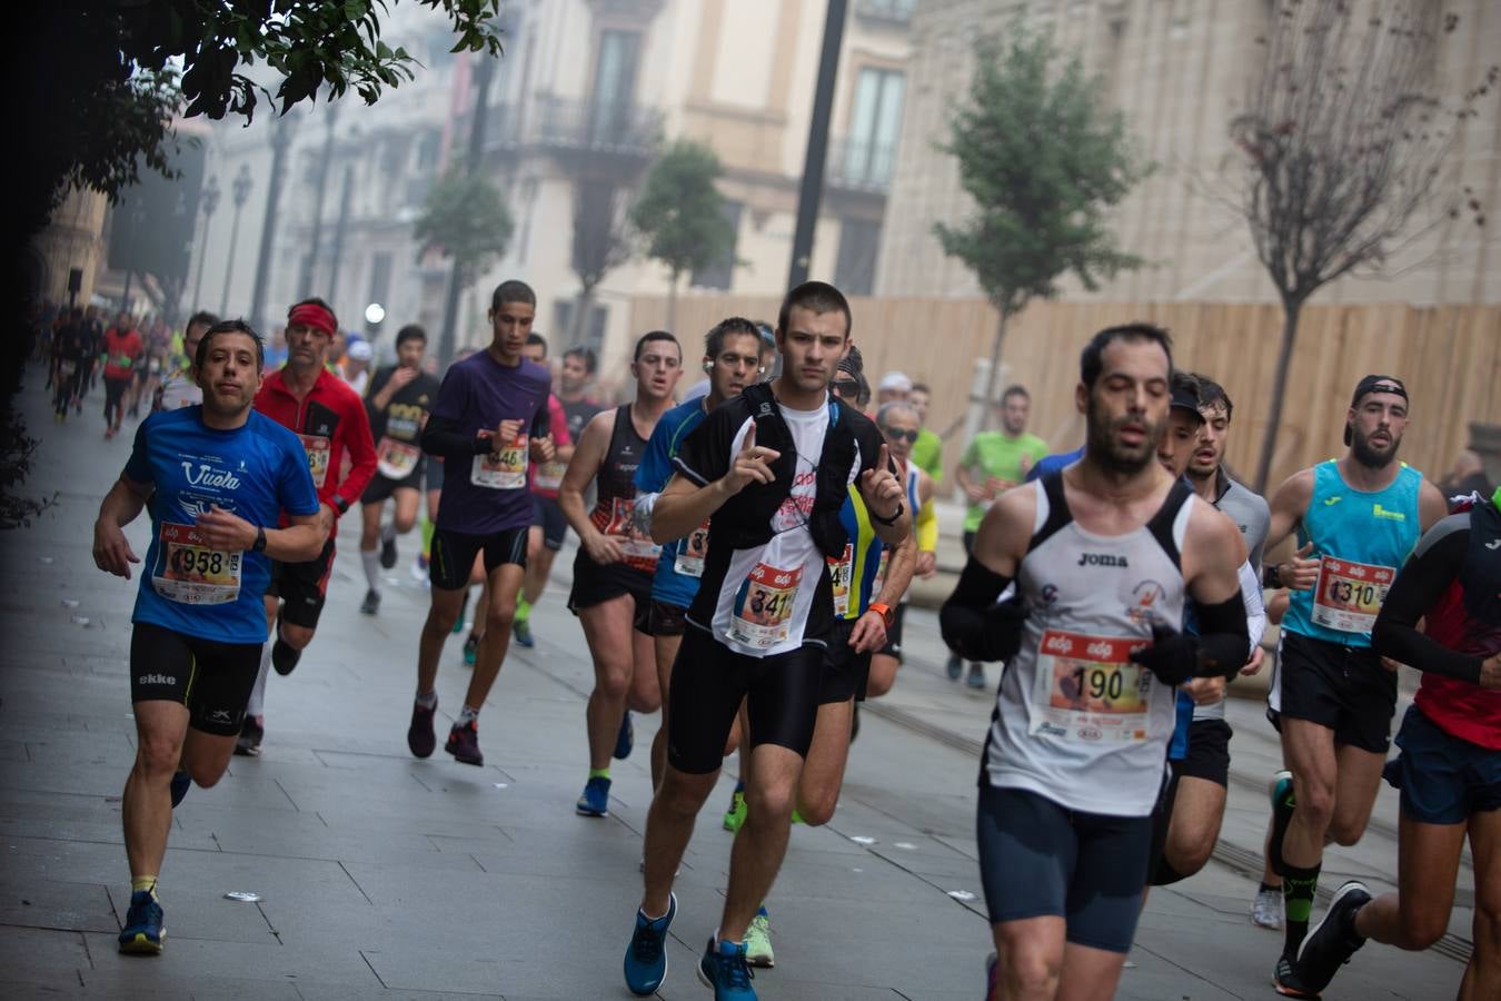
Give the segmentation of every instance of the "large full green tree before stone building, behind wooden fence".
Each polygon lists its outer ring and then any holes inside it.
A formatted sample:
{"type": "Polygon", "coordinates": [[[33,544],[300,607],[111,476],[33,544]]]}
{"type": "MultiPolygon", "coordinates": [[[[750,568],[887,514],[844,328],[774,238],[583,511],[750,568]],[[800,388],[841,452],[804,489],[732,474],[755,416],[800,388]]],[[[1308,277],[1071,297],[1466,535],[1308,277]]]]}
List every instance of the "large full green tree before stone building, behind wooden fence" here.
{"type": "Polygon", "coordinates": [[[1106,216],[1151,168],[1100,78],[1021,24],[976,42],[968,102],[940,149],[959,161],[974,212],[934,233],[1000,314],[986,389],[994,399],[1006,327],[1028,302],[1055,297],[1067,273],[1094,290],[1142,264],[1117,246],[1106,216]]]}

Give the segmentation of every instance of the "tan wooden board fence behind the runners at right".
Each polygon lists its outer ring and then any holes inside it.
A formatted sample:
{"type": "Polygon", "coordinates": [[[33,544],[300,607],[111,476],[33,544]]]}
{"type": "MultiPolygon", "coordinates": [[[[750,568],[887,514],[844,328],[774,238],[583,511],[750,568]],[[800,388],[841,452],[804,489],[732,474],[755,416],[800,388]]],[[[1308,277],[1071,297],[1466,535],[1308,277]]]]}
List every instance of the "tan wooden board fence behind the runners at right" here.
{"type": "MultiPolygon", "coordinates": [[[[696,359],[702,332],[729,315],[775,326],[779,300],[764,296],[683,296],[675,327],[696,359]]],[[[947,467],[964,449],[964,413],[976,362],[989,359],[995,311],[976,299],[854,299],[854,342],[872,384],[899,369],[932,387],[928,425],[944,440],[947,467]]],[[[666,326],[666,300],[632,302],[632,330],[666,326]]],[[[1282,309],[1267,303],[1040,302],[1012,323],[998,386],[1031,392],[1030,429],[1054,450],[1084,440],[1073,404],[1079,350],[1096,330],[1132,320],[1172,332],[1174,359],[1225,386],[1235,414],[1228,459],[1252,476],[1265,432],[1282,309]]],[[[696,378],[689,365],[684,378],[696,378]]],[[[1361,375],[1396,375],[1411,393],[1412,422],[1402,458],[1441,477],[1469,444],[1469,423],[1501,423],[1501,306],[1304,306],[1283,402],[1271,483],[1342,452],[1349,393],[1361,375]]]]}

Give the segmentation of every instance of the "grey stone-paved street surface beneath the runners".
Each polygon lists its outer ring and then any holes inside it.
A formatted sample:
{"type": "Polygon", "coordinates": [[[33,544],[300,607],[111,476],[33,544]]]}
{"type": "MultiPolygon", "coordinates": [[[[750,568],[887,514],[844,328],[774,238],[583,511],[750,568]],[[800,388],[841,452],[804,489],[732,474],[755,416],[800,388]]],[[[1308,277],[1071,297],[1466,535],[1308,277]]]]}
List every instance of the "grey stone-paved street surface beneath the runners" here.
{"type": "MultiPolygon", "coordinates": [[[[641,750],[614,767],[611,816],[576,816],[591,669],[563,608],[569,554],[534,612],[536,650],[512,650],[482,717],[486,767],[441,750],[416,761],[404,741],[426,609],[407,572],[416,542],[402,540],[380,617],[363,617],[353,518],[318,638],[291,677],[270,680],[264,755],[234,758],[216,788],[192,789],[177,810],[162,873],[167,953],[116,953],[129,887],[119,795],[135,740],[125,671],[135,582],[98,572],[89,548],[131,440],[104,441],[98,393],[83,419],[51,423],[41,377],[30,381],[21,404],[44,444],[27,489],[60,500],[30,530],[0,534],[0,992],[630,996],[620,962],[639,896],[656,719],[636,719],[641,750]],[[225,899],[236,890],[261,900],[225,899]]],[[[144,552],[144,519],[129,534],[144,552]]],[[[989,930],[973,810],[994,692],[943,677],[931,612],[908,617],[908,648],[893,695],[863,713],[833,822],[793,831],[770,900],[778,968],[755,980],[769,1001],[982,995],[989,930]]],[[[455,638],[438,677],[441,717],[465,683],[455,638]]],[[[1247,923],[1255,884],[1237,863],[1256,854],[1265,807],[1255,786],[1276,746],[1252,705],[1231,710],[1225,849],[1204,873],[1153,893],[1121,998],[1274,996],[1279,942],[1247,923]]],[[[693,965],[719,917],[731,782],[720,780],[684,860],[663,998],[707,996],[693,965]]],[[[1328,888],[1345,873],[1393,879],[1388,791],[1378,821],[1361,845],[1330,852],[1328,888]]],[[[1465,869],[1466,906],[1471,881],[1465,869]]],[[[1453,930],[1468,938],[1468,921],[1456,914],[1453,930]]],[[[1370,945],[1325,996],[1451,996],[1459,975],[1448,956],[1370,945]]]]}

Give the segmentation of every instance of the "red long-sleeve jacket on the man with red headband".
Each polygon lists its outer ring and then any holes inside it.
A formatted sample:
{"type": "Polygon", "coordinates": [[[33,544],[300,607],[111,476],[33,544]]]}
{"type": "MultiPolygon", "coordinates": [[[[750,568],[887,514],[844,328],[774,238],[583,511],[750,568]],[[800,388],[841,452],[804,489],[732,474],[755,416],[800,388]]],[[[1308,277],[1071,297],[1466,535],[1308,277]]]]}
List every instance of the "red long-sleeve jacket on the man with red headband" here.
{"type": "MultiPolygon", "coordinates": [[[[365,401],[344,380],[327,369],[320,371],[312,389],[299,401],[287,389],[281,371],[272,372],[255,393],[255,410],[302,438],[320,501],[341,512],[360,498],[375,474],[375,443],[365,401]],[[350,471],[341,480],[345,453],[350,471]]],[[[338,530],[335,522],[333,533],[338,530]]]]}

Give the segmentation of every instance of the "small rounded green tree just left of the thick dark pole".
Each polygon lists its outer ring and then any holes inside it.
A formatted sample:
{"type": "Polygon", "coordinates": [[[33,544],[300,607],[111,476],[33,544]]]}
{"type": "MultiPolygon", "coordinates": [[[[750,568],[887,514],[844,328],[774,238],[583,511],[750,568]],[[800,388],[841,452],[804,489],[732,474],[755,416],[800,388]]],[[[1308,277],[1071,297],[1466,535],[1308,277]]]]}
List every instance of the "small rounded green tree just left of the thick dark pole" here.
{"type": "Polygon", "coordinates": [[[677,284],[684,272],[717,264],[735,246],[725,197],[714,182],[719,158],[705,146],[678,140],[647,174],[630,207],[630,224],[645,240],[647,257],[668,270],[668,327],[677,320],[677,284]]]}

